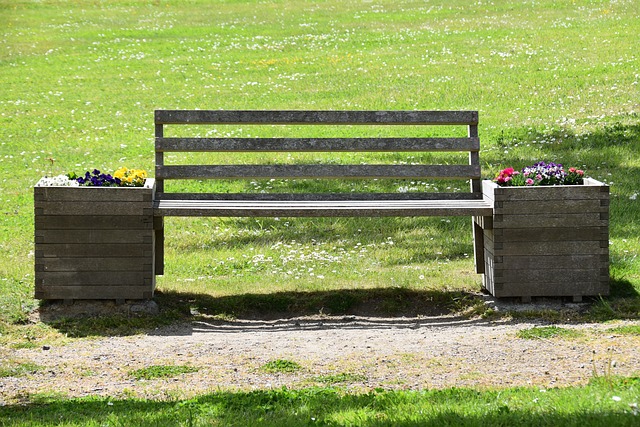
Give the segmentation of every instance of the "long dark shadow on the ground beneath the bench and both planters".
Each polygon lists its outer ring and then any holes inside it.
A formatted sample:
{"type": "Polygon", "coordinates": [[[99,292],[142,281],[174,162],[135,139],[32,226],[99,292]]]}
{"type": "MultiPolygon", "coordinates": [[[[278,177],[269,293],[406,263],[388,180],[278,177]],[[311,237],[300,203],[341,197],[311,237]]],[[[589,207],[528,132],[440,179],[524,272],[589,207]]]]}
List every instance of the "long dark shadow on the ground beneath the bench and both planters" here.
{"type": "Polygon", "coordinates": [[[591,322],[640,318],[640,295],[625,280],[611,281],[611,296],[497,299],[462,291],[404,288],[276,292],[213,296],[157,292],[151,301],[84,300],[72,305],[43,302],[37,319],[70,337],[183,334],[199,328],[242,332],[262,328],[386,328],[469,321],[534,319],[591,322]],[[182,325],[182,326],[181,326],[182,325]],[[188,326],[184,326],[188,325],[188,326]]]}

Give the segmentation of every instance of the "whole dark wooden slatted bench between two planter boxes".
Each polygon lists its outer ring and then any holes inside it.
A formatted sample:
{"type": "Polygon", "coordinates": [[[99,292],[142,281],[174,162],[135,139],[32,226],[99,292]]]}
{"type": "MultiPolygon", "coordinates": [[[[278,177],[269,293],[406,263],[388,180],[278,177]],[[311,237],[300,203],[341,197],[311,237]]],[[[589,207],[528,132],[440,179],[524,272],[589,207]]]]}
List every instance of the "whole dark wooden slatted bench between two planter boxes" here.
{"type": "MultiPolygon", "coordinates": [[[[200,130],[200,128],[194,128],[200,130]]],[[[208,129],[211,129],[210,127],[208,129]]],[[[369,129],[370,130],[370,129],[369,129]]],[[[211,133],[211,132],[208,132],[211,133]]],[[[470,216],[490,217],[492,206],[483,200],[480,174],[480,142],[478,138],[477,111],[203,111],[203,110],[157,110],[155,111],[155,161],[156,193],[153,213],[156,228],[156,274],[164,271],[164,224],[168,216],[212,216],[212,217],[382,217],[382,216],[470,216]],[[165,129],[169,125],[170,129],[165,129]],[[173,130],[178,136],[165,137],[166,130],[173,130]],[[184,126],[214,126],[216,134],[223,134],[217,128],[228,125],[242,126],[243,130],[258,129],[272,134],[273,125],[287,127],[289,132],[306,134],[310,125],[321,125],[339,130],[339,137],[235,137],[227,132],[224,136],[195,137],[182,136],[184,126]],[[362,125],[375,129],[396,131],[405,129],[402,136],[354,137],[369,135],[362,125]],[[466,127],[464,136],[423,137],[424,126],[448,126],[459,129],[466,127]],[[393,129],[387,126],[394,126],[393,129]],[[302,127],[302,128],[300,128],[302,127]],[[378,128],[381,127],[381,128],[378,128]],[[265,131],[266,129],[266,131],[265,131]],[[303,131],[304,130],[304,131],[303,131]],[[418,133],[406,136],[406,132],[418,133]],[[342,136],[348,134],[348,137],[342,136]],[[385,160],[382,164],[335,164],[335,162],[299,161],[275,162],[269,155],[264,161],[264,153],[378,153],[385,160]],[[391,158],[393,153],[434,153],[457,152],[456,164],[407,164],[391,158]],[[218,164],[166,164],[170,160],[166,153],[227,153],[218,164]],[[247,153],[258,155],[260,164],[236,161],[247,153]],[[460,155],[460,153],[466,154],[460,155]],[[262,157],[261,157],[262,156],[262,157]],[[385,157],[387,156],[387,157],[385,157]],[[391,160],[390,160],[391,159],[391,160]],[[231,161],[229,161],[231,160],[231,161]],[[229,164],[231,163],[231,164],[229,164]],[[229,189],[234,180],[334,180],[344,184],[349,180],[465,180],[470,183],[470,191],[446,192],[286,192],[247,193],[229,189]],[[171,191],[165,184],[173,180],[195,180],[199,186],[202,180],[218,180],[218,189],[205,192],[171,191]],[[222,185],[222,189],[220,188],[222,185]],[[226,187],[225,187],[226,185],[226,187]]],[[[175,154],[171,154],[176,156],[175,154]]],[[[370,154],[359,154],[368,156],[370,154]]],[[[417,155],[417,154],[416,154],[417,155]]],[[[218,155],[220,156],[220,155],[218,155]]],[[[282,154],[280,155],[283,156],[282,154]]],[[[342,156],[338,163],[350,156],[342,156]]],[[[428,158],[428,155],[422,155],[428,158]]],[[[285,159],[286,160],[286,159],[285,159]]],[[[308,160],[308,159],[307,159],[308,160]]],[[[416,162],[417,163],[417,162],[416,162]]],[[[294,181],[291,181],[292,183],[294,181]]],[[[318,182],[318,181],[315,181],[318,182]]],[[[173,184],[179,184],[173,182],[173,184]]],[[[325,182],[326,184],[326,182],[325,182]]],[[[466,185],[466,184],[465,184],[466,185]]],[[[292,184],[293,186],[293,184],[292,184]]],[[[326,188],[326,187],[321,187],[326,188]]],[[[475,223],[474,255],[476,272],[483,273],[482,230],[475,223]]]]}

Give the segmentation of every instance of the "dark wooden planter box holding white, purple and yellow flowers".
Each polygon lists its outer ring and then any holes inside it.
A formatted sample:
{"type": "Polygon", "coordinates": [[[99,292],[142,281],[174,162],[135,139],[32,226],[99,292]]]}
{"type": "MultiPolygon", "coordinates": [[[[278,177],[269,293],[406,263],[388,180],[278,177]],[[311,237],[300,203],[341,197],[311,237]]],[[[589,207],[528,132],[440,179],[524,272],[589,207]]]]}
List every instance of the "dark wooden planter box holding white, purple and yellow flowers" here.
{"type": "Polygon", "coordinates": [[[35,297],[148,299],[153,196],[144,187],[34,187],[35,297]]]}

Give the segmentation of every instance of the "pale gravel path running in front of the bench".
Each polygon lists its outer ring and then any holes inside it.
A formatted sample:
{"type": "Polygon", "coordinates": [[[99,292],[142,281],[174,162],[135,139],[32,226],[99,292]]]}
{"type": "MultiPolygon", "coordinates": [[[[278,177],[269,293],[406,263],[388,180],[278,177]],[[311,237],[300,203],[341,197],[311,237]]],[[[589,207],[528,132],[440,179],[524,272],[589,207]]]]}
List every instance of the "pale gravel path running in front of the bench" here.
{"type": "Polygon", "coordinates": [[[352,381],[339,385],[358,391],[548,388],[584,384],[594,375],[640,375],[640,337],[612,333],[612,324],[559,325],[581,331],[578,338],[516,336],[533,326],[537,325],[451,316],[314,316],[194,322],[147,335],[3,349],[0,360],[29,361],[43,368],[0,378],[0,404],[26,400],[35,393],[166,399],[217,390],[306,387],[327,385],[328,376],[345,373],[352,374],[352,381]],[[277,359],[295,361],[302,369],[294,373],[260,369],[277,359]],[[199,370],[147,381],[130,375],[139,368],[174,364],[199,370]]]}

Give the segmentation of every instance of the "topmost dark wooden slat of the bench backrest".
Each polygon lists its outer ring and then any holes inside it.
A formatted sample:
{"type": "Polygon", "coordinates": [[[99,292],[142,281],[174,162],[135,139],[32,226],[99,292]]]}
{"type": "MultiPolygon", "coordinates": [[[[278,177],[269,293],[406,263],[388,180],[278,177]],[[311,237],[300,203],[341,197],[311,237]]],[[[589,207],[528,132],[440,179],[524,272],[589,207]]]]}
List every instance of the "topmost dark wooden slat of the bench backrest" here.
{"type": "Polygon", "coordinates": [[[472,125],[477,111],[211,111],[156,110],[156,124],[472,125]]]}

